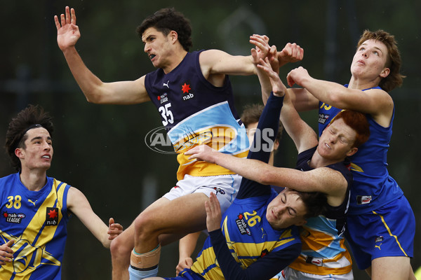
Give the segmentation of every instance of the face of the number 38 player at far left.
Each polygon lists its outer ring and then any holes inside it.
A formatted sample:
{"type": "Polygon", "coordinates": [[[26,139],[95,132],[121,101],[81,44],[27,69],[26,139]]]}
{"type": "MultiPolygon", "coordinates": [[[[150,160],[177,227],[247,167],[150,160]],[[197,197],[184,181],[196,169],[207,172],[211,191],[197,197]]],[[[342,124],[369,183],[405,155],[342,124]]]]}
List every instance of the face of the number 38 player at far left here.
{"type": "Polygon", "coordinates": [[[48,169],[53,160],[53,141],[44,127],[28,130],[25,148],[15,151],[23,169],[48,169]],[[19,151],[18,151],[19,150],[19,151]]]}

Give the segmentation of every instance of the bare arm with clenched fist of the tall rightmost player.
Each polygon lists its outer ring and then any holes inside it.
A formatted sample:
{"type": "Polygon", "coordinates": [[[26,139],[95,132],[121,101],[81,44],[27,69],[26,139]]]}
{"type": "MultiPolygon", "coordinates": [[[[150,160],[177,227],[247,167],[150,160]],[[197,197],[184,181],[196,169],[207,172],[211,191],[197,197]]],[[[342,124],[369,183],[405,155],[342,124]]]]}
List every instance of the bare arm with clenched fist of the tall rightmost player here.
{"type": "Polygon", "coordinates": [[[387,127],[393,113],[393,100],[384,90],[356,90],[338,83],[312,78],[308,71],[298,67],[287,76],[288,85],[305,87],[316,99],[340,109],[369,113],[377,123],[387,127]]]}

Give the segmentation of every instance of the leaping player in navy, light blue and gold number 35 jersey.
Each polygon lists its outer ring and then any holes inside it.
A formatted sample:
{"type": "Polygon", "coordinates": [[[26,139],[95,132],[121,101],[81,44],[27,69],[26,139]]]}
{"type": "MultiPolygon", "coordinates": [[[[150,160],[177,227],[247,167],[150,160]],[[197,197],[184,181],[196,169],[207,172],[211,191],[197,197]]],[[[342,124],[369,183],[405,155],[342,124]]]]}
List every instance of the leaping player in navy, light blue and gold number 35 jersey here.
{"type": "MultiPolygon", "coordinates": [[[[189,20],[173,8],[163,8],[138,27],[144,51],[157,70],[137,80],[104,83],[83,64],[76,51],[80,32],[74,9],[66,7],[60,19],[55,16],[55,25],[58,46],[88,102],[151,101],[178,153],[180,167],[175,188],[147,207],[111,246],[114,280],[128,279],[129,267],[133,275],[154,275],[161,244],[206,228],[203,206],[210,193],[220,190],[217,197],[225,211],[238,192],[240,176],[218,165],[188,160],[184,152],[208,143],[224,153],[246,157],[248,141],[234,107],[228,75],[252,75],[255,66],[250,56],[229,55],[222,50],[189,52],[189,20]],[[177,219],[173,218],[175,211],[177,219]]],[[[260,38],[250,36],[250,43],[260,57],[267,55],[269,49],[264,48],[260,38]]],[[[276,55],[281,64],[286,64],[302,59],[303,53],[300,46],[288,43],[276,55]]]]}

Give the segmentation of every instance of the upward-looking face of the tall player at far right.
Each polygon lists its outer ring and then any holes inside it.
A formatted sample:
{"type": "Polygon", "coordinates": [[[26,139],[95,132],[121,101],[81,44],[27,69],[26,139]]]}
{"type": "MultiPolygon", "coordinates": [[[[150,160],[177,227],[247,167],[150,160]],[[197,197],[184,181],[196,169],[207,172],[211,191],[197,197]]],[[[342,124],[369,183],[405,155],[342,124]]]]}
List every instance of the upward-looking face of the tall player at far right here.
{"type": "Polygon", "coordinates": [[[370,80],[385,78],[389,74],[389,69],[385,66],[387,55],[384,43],[372,39],[365,41],[356,50],[352,59],[352,76],[370,80]]]}

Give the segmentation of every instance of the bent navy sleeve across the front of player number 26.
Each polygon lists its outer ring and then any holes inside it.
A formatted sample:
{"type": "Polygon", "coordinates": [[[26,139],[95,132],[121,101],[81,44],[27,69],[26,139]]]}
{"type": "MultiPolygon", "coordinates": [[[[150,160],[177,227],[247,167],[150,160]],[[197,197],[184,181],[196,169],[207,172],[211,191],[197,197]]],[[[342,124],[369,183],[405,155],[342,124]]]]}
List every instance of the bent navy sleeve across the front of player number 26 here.
{"type": "Polygon", "coordinates": [[[271,279],[298,258],[301,252],[301,243],[294,243],[280,251],[270,252],[253,262],[246,269],[242,269],[229,252],[222,231],[214,230],[209,232],[209,236],[225,280],[271,279]]]}

